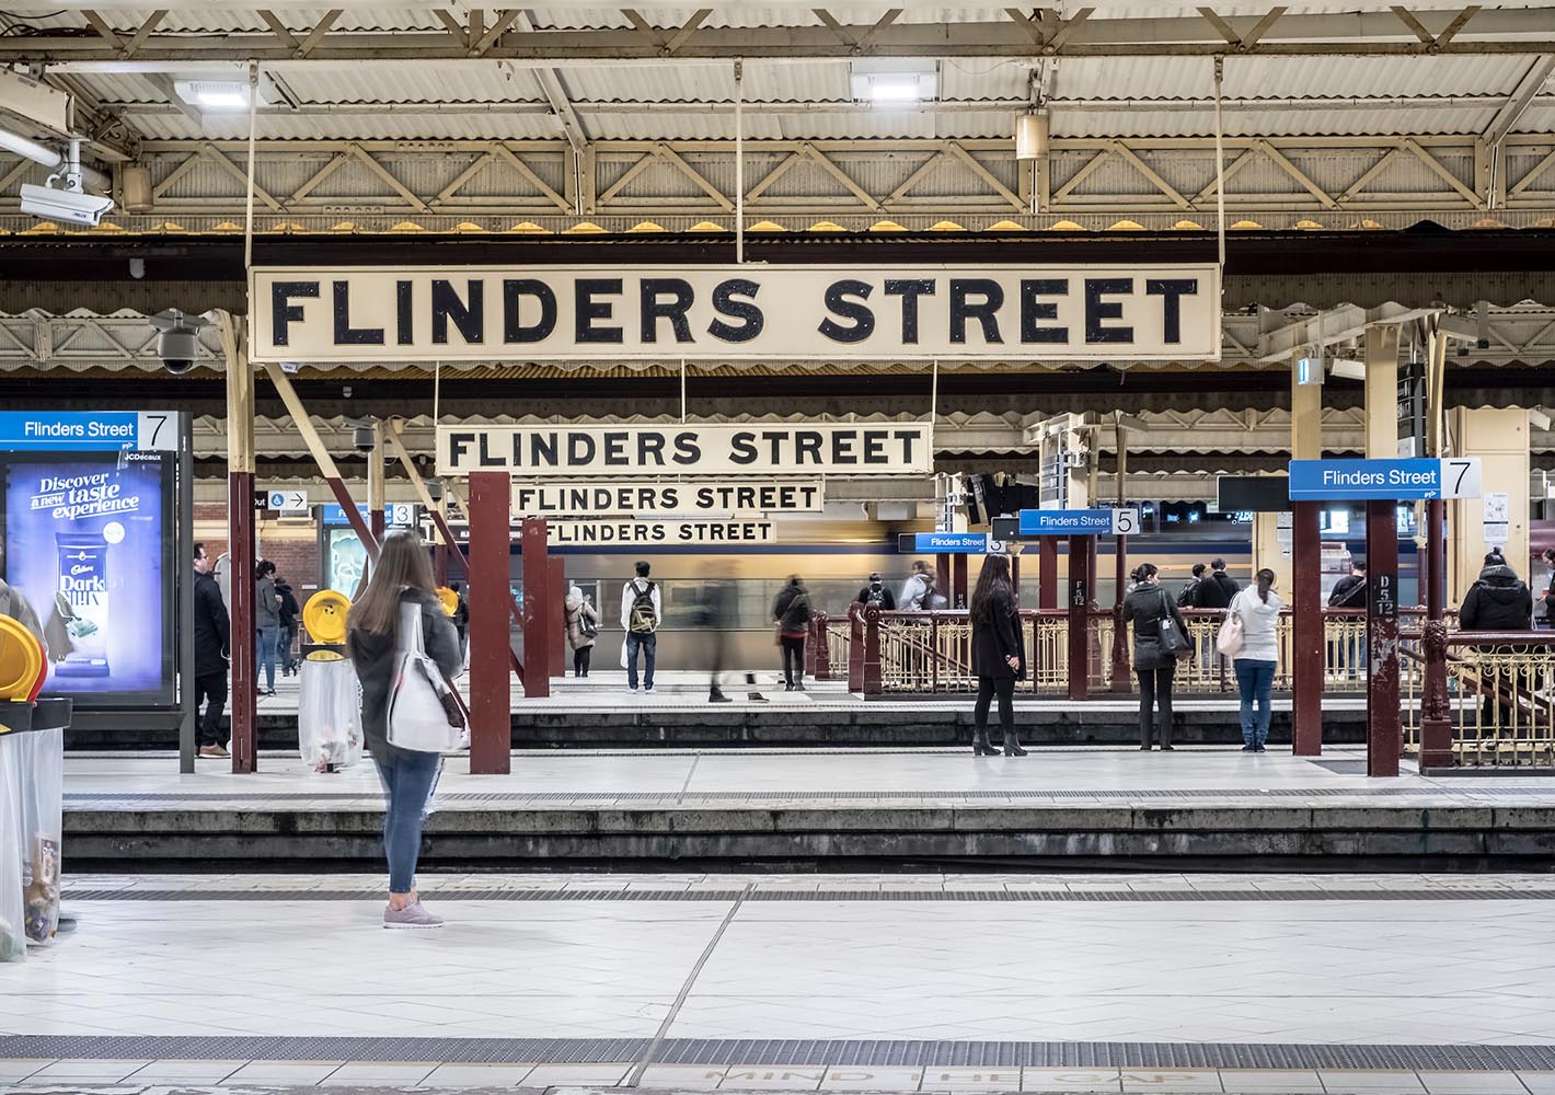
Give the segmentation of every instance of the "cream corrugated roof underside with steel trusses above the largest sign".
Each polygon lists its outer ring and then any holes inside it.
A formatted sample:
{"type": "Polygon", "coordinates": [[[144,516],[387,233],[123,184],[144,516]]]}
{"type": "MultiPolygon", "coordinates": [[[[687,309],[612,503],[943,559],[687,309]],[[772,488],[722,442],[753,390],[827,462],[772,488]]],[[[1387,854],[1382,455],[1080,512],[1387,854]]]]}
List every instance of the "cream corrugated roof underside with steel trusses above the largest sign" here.
{"type": "MultiPolygon", "coordinates": [[[[1555,6],[1429,0],[0,14],[0,70],[75,96],[117,185],[146,173],[107,232],[159,235],[243,224],[247,112],[190,86],[250,59],[264,233],[712,235],[740,199],[790,232],[1193,230],[1218,166],[1228,227],[1549,227],[1552,42],[1555,6]],[[882,72],[921,98],[861,90],[882,72]],[[1047,154],[1015,160],[1039,106],[1047,154]]],[[[0,230],[34,227],[16,184],[44,174],[0,152],[0,230]]]]}

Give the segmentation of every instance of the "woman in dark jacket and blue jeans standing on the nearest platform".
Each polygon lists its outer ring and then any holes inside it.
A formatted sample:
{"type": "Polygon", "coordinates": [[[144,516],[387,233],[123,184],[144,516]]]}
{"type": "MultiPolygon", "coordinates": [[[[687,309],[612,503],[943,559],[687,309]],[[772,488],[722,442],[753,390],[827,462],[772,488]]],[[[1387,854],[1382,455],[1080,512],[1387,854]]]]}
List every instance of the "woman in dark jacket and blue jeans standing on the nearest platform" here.
{"type": "Polygon", "coordinates": [[[442,927],[440,916],[421,908],[415,891],[415,862],[421,852],[421,823],[437,787],[443,757],[389,743],[389,694],[398,655],[414,642],[404,631],[411,607],[421,610],[421,649],[439,669],[453,675],[462,661],[459,635],[443,614],[432,586],[432,566],[414,532],[390,532],[361,599],[347,616],[345,645],[362,684],[362,737],[378,765],[384,795],[384,855],[389,860],[389,907],[384,927],[442,927]]]}

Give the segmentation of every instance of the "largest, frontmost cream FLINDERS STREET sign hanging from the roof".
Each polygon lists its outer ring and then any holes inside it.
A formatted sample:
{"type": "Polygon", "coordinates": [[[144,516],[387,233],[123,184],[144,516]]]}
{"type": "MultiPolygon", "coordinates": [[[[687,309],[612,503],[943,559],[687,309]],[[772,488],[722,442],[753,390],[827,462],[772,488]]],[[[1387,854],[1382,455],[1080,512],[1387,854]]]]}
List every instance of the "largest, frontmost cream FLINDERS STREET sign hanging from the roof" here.
{"type": "Polygon", "coordinates": [[[257,268],[253,361],[1218,361],[1213,263],[257,268]]]}

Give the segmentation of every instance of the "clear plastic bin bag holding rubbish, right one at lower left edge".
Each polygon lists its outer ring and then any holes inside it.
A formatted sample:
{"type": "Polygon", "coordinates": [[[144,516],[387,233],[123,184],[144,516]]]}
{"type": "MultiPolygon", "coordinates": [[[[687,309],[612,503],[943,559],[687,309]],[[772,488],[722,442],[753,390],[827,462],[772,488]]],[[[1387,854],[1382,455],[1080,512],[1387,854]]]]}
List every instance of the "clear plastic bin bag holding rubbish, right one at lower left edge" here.
{"type": "Polygon", "coordinates": [[[22,804],[22,904],[26,938],[53,943],[59,930],[59,851],[65,818],[65,731],[17,734],[22,804]]]}

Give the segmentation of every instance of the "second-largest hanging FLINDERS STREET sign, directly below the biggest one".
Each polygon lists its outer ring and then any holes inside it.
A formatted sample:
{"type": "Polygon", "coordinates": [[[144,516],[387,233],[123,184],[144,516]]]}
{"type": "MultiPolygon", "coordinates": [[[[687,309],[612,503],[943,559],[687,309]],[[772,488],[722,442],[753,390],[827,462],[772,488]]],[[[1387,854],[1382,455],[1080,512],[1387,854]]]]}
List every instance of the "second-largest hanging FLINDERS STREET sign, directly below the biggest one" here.
{"type": "Polygon", "coordinates": [[[437,474],[908,476],[935,468],[927,422],[437,428],[437,474]]]}

